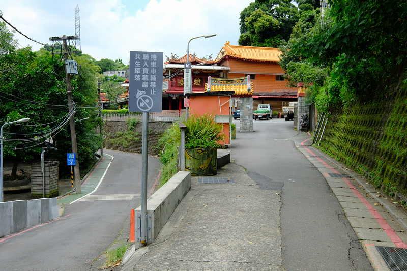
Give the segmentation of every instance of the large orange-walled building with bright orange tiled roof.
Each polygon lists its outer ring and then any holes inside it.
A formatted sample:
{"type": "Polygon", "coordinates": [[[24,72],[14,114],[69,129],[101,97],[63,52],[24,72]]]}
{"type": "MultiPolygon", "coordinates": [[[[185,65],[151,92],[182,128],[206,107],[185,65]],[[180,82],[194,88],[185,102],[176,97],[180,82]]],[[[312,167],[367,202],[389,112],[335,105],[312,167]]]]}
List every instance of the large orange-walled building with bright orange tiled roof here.
{"type": "Polygon", "coordinates": [[[274,111],[282,111],[283,101],[297,101],[297,87],[287,87],[285,71],[278,62],[281,52],[277,48],[230,45],[226,42],[215,61],[218,66],[228,67],[224,78],[240,78],[250,75],[255,87],[253,107],[259,103],[271,104],[274,111]]]}

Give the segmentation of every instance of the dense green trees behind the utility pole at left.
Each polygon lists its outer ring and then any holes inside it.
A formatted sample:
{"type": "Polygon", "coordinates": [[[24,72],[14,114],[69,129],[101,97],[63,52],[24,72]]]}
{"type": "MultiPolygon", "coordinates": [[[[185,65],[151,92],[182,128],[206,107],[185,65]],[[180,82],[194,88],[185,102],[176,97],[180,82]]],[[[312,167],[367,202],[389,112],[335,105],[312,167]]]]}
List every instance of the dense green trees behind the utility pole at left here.
{"type": "Polygon", "coordinates": [[[52,139],[56,149],[47,152],[46,159],[60,160],[60,169],[69,172],[64,161],[72,152],[69,118],[74,117],[78,159],[82,173],[86,173],[101,146],[101,137],[94,132],[100,122],[95,82],[98,67],[86,55],[77,57],[81,75],[71,81],[73,115],[68,109],[63,61],[56,61],[47,50],[16,49],[13,33],[4,22],[0,22],[0,31],[0,124],[30,118],[27,123],[4,127],[5,160],[15,161],[15,174],[18,161],[39,160],[42,143],[52,139]],[[89,120],[79,121],[86,117],[89,120]]]}

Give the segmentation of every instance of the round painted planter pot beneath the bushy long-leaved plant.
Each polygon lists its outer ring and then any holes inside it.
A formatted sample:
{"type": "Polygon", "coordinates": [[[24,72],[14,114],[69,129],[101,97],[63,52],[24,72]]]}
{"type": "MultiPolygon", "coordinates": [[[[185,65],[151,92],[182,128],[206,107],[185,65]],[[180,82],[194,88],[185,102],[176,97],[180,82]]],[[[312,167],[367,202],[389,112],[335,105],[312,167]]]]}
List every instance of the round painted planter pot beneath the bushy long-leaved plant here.
{"type": "Polygon", "coordinates": [[[191,171],[192,176],[212,176],[217,172],[216,148],[185,149],[185,171],[191,171]]]}

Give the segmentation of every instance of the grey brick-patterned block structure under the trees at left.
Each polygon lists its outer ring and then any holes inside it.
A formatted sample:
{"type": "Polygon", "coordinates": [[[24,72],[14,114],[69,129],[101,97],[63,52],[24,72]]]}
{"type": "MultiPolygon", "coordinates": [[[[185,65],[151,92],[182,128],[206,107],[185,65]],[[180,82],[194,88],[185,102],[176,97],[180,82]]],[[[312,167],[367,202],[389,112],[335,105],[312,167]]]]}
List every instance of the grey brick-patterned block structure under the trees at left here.
{"type": "Polygon", "coordinates": [[[59,196],[58,160],[44,161],[44,172],[41,161],[31,164],[31,198],[53,198],[59,196]],[[44,185],[43,185],[44,184],[44,185]]]}

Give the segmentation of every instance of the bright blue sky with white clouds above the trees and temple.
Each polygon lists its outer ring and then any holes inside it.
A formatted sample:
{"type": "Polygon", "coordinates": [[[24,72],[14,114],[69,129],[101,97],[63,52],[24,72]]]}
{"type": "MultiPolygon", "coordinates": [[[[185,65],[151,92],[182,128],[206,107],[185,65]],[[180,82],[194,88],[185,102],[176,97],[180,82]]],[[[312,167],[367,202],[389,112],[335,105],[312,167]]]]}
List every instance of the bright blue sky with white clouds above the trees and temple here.
{"type": "MultiPolygon", "coordinates": [[[[75,8],[79,7],[82,52],[96,60],[122,59],[129,63],[130,51],[163,52],[166,56],[189,52],[197,57],[216,58],[230,41],[238,45],[239,16],[252,0],[55,0],[2,1],[3,17],[20,32],[41,43],[50,37],[75,35],[75,8]],[[79,2],[79,1],[78,1],[79,2]]],[[[11,28],[10,28],[11,29],[11,28]]],[[[21,47],[33,51],[43,45],[19,33],[21,47]]]]}

